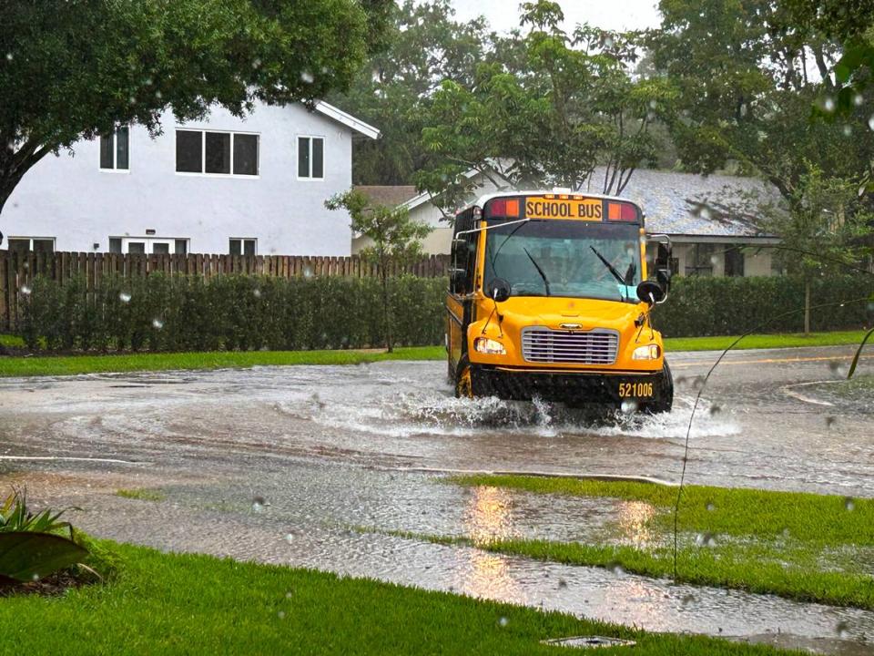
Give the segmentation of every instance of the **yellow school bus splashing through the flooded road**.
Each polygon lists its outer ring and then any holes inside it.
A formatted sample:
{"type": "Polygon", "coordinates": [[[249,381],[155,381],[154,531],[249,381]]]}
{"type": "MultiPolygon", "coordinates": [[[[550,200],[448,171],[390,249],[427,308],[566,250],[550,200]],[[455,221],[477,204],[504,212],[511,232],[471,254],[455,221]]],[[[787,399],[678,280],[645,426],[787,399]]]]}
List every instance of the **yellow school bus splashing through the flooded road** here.
{"type": "MultiPolygon", "coordinates": [[[[669,241],[667,248],[669,257],[669,241]]],[[[674,383],[650,320],[644,215],[628,200],[484,196],[455,218],[446,351],[457,396],[667,412],[674,383]]]]}

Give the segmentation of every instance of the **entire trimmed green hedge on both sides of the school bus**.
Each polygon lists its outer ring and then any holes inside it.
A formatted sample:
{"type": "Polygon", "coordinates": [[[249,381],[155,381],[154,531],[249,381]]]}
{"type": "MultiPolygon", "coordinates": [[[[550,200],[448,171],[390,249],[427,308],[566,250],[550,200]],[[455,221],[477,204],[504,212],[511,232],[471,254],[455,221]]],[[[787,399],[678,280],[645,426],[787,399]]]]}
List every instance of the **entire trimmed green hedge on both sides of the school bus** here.
{"type": "MultiPolygon", "coordinates": [[[[444,279],[391,279],[398,345],[443,340],[444,279]]],[[[874,293],[874,277],[818,280],[811,304],[874,293]]],[[[788,278],[677,278],[655,326],[669,337],[739,334],[761,329],[798,333],[804,286],[788,278]]],[[[65,351],[306,350],[381,346],[380,282],[372,278],[279,279],[197,276],[107,279],[97,292],[84,281],[37,278],[25,297],[21,333],[31,349],[65,351]],[[129,299],[127,301],[123,299],[129,299]]],[[[874,304],[814,310],[815,331],[874,323],[874,304]]]]}

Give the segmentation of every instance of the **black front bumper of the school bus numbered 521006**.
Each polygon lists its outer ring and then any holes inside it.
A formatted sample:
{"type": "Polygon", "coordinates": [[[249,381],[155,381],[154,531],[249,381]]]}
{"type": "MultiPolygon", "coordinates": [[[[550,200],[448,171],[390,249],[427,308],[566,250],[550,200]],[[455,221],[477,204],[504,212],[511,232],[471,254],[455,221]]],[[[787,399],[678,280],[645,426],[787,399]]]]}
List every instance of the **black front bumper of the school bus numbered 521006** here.
{"type": "Polygon", "coordinates": [[[514,401],[530,401],[536,397],[566,405],[656,403],[669,394],[670,385],[662,371],[532,371],[488,365],[473,365],[471,383],[476,396],[498,396],[514,401]]]}

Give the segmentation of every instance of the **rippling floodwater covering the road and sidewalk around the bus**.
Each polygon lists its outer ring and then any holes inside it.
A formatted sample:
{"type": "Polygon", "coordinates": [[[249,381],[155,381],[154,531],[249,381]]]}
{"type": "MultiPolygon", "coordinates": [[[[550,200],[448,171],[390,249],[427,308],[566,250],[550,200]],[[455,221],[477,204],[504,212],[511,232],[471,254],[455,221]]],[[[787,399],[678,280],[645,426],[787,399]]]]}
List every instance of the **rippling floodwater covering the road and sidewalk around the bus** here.
{"type": "MultiPolygon", "coordinates": [[[[829,394],[851,353],[730,354],[703,392],[687,481],[874,497],[874,408],[829,394]]],[[[676,481],[700,377],[715,358],[675,354],[675,412],[610,425],[542,404],[456,400],[438,362],[5,379],[0,481],[25,482],[37,502],[82,507],[70,519],[97,535],[158,548],[453,589],[649,630],[874,653],[861,642],[874,635],[866,611],[385,534],[603,539],[607,524],[624,526],[624,514],[643,509],[466,489],[435,474],[676,481]],[[114,494],[137,487],[166,499],[114,494]]],[[[626,525],[623,539],[645,542],[640,522],[626,525]]]]}

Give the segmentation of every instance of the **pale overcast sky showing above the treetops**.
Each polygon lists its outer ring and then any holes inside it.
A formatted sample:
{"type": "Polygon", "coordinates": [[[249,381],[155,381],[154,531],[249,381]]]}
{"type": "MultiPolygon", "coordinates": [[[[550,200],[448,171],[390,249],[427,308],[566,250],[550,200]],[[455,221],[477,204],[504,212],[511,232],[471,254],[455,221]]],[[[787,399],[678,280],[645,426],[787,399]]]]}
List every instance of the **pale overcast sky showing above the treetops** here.
{"type": "MultiPolygon", "coordinates": [[[[655,9],[658,0],[559,0],[565,18],[565,30],[577,23],[604,29],[639,29],[655,27],[659,15],[655,9]]],[[[460,20],[484,15],[498,31],[519,26],[521,0],[452,0],[460,20]]]]}

